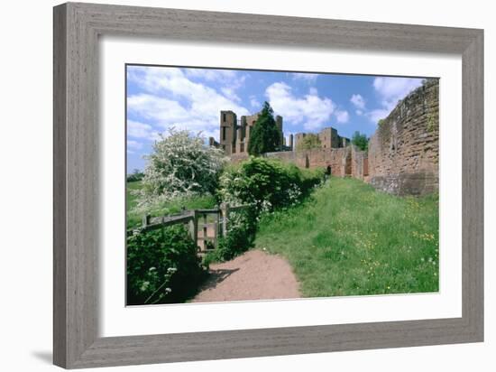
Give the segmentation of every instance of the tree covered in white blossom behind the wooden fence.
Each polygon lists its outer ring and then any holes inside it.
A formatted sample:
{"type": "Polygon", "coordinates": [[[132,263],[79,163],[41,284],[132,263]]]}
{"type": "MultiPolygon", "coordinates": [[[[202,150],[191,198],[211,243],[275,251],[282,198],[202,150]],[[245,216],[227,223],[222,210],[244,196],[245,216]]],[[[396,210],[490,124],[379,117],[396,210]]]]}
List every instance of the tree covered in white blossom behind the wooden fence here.
{"type": "Polygon", "coordinates": [[[187,130],[170,129],[168,136],[153,144],[145,156],[148,164],[137,191],[138,208],[146,208],[178,198],[212,193],[216,188],[225,155],[207,146],[204,138],[187,130]]]}

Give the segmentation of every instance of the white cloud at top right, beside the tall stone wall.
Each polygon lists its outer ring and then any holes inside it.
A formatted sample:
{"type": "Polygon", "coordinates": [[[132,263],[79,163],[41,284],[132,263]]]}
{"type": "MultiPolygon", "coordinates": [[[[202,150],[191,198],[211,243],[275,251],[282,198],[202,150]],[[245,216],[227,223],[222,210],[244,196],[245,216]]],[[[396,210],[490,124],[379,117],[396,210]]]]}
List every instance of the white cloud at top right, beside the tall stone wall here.
{"type": "Polygon", "coordinates": [[[373,88],[381,97],[381,104],[392,110],[400,99],[422,85],[422,79],[415,78],[375,78],[373,88]]]}

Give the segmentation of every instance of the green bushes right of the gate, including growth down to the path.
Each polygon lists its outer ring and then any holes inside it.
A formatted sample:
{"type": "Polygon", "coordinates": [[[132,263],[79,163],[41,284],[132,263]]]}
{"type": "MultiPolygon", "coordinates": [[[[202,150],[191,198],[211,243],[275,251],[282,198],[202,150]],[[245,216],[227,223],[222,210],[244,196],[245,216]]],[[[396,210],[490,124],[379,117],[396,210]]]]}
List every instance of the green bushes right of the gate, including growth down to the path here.
{"type": "Polygon", "coordinates": [[[263,213],[295,205],[323,179],[323,169],[300,170],[266,158],[251,157],[227,168],[219,181],[218,200],[250,207],[230,214],[227,236],[219,239],[205,262],[229,260],[252,247],[263,213]]]}

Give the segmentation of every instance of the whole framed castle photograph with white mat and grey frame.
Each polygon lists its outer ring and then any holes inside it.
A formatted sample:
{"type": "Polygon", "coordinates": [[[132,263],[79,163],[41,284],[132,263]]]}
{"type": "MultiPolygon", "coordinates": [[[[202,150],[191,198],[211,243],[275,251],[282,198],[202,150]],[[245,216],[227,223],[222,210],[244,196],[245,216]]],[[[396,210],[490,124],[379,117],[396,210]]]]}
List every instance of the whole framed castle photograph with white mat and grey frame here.
{"type": "Polygon", "coordinates": [[[483,32],[54,8],[54,363],[483,339],[483,32]]]}

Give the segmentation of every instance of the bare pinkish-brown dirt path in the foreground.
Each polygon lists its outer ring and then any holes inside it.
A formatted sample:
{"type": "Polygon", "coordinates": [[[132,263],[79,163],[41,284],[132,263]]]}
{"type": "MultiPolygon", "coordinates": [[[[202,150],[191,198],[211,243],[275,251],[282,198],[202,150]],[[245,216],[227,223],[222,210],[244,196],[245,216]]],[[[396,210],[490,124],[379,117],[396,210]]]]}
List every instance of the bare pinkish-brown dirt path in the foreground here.
{"type": "Polygon", "coordinates": [[[210,265],[210,278],[192,302],[298,298],[299,284],[280,256],[251,250],[234,260],[210,265]]]}

